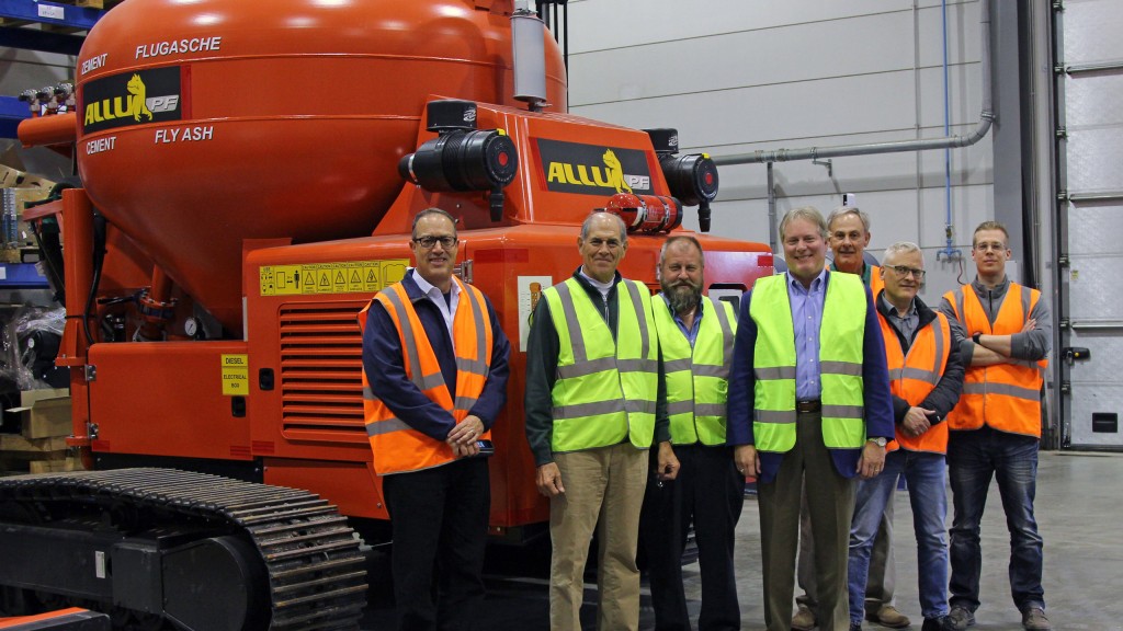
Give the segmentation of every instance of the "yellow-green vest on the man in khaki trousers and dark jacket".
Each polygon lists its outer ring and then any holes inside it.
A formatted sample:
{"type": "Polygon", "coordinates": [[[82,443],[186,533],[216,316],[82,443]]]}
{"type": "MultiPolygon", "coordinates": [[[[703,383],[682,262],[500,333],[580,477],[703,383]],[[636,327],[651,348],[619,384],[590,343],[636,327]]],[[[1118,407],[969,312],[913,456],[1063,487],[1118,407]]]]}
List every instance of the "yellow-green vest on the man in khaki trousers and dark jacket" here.
{"type": "Polygon", "coordinates": [[[615,339],[576,278],[547,289],[542,298],[559,346],[553,450],[593,449],[626,437],[638,448],[650,447],[659,369],[651,293],[634,281],[617,284],[615,339]]]}

